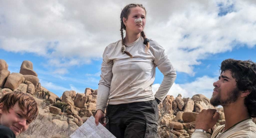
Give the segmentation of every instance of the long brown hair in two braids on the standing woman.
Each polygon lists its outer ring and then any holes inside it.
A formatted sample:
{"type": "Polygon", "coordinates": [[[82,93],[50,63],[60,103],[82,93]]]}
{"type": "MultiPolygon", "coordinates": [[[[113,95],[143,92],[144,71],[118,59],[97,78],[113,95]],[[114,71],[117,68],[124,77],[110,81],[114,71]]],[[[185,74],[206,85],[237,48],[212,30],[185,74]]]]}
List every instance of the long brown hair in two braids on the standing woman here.
{"type": "MultiPolygon", "coordinates": [[[[120,22],[121,22],[120,32],[121,32],[121,37],[122,37],[121,51],[122,51],[123,54],[125,53],[128,56],[130,56],[131,58],[132,58],[132,54],[129,53],[128,51],[126,51],[126,46],[127,45],[125,45],[125,43],[124,43],[124,32],[123,32],[123,30],[126,30],[126,26],[124,25],[123,18],[127,19],[128,15],[130,14],[130,8],[135,8],[135,7],[141,7],[142,9],[145,10],[145,13],[147,13],[146,9],[141,4],[128,4],[124,7],[124,9],[122,10],[121,15],[120,15],[120,22]]],[[[149,39],[146,38],[146,35],[145,35],[144,31],[142,31],[140,33],[140,35],[144,38],[144,44],[146,45],[146,50],[145,51],[147,52],[148,49],[149,49],[149,39]]]]}

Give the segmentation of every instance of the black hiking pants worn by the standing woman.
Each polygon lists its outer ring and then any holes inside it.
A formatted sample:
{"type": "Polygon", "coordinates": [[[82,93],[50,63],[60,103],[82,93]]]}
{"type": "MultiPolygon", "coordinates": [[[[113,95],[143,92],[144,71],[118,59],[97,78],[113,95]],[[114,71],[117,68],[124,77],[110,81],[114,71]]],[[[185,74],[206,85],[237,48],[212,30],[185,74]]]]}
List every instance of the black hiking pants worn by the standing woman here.
{"type": "Polygon", "coordinates": [[[116,138],[156,138],[159,118],[156,100],[108,105],[106,128],[116,138]]]}

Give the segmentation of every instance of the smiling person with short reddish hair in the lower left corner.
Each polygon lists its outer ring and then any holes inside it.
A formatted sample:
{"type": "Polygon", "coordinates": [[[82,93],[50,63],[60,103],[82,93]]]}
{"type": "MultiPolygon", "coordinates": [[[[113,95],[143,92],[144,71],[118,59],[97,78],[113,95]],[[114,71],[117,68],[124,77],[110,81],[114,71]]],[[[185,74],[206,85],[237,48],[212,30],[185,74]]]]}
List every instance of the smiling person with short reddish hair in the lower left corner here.
{"type": "Polygon", "coordinates": [[[0,99],[0,137],[15,138],[26,131],[38,115],[37,103],[22,92],[11,92],[0,99]]]}

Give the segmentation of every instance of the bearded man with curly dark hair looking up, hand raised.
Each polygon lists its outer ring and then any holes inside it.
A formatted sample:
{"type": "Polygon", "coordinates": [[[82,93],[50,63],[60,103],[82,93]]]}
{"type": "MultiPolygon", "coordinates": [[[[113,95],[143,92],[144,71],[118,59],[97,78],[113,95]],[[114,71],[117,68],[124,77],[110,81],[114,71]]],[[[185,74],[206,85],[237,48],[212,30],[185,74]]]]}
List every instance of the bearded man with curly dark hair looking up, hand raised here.
{"type": "MultiPolygon", "coordinates": [[[[213,83],[211,104],[222,105],[225,125],[218,126],[211,138],[256,138],[256,64],[226,59],[221,63],[219,80],[213,83]]],[[[196,117],[192,138],[208,138],[206,131],[219,119],[215,109],[202,110],[196,117]]]]}

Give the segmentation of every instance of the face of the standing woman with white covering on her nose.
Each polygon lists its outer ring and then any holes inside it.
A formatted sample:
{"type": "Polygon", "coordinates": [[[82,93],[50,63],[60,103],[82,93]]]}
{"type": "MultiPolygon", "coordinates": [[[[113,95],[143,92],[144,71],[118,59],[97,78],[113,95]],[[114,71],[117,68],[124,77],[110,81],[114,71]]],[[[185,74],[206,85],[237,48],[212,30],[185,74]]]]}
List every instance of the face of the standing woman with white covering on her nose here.
{"type": "Polygon", "coordinates": [[[123,18],[123,21],[127,32],[138,34],[144,30],[146,25],[146,12],[141,7],[131,8],[128,19],[123,18]],[[135,22],[138,18],[142,19],[141,24],[135,22]]]}

